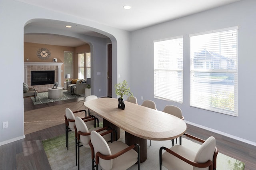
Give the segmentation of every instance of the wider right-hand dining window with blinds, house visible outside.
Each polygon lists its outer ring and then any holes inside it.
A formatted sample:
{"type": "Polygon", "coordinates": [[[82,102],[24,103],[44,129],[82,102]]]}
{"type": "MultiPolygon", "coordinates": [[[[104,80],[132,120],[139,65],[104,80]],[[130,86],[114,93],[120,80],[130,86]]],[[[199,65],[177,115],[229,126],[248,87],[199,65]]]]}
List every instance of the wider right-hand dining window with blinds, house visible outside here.
{"type": "Polygon", "coordinates": [[[238,28],[190,35],[190,105],[237,116],[238,28]]]}

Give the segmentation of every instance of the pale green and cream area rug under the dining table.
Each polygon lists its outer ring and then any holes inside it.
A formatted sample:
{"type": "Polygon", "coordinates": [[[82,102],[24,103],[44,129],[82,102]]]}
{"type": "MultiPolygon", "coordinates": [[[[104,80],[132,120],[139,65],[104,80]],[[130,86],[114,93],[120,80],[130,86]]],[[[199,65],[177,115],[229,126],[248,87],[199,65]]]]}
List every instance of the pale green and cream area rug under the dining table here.
{"type": "MultiPolygon", "coordinates": [[[[124,130],[120,129],[120,139],[125,141],[124,130]]],[[[149,141],[149,140],[148,140],[149,141]]],[[[69,148],[67,150],[65,144],[65,134],[57,136],[55,138],[47,139],[42,141],[44,150],[48,157],[52,170],[77,170],[76,166],[76,154],[75,154],[75,138],[74,132],[69,135],[69,148]]],[[[148,158],[145,162],[140,164],[142,170],[157,170],[159,169],[159,148],[166,146],[170,148],[172,142],[167,141],[153,141],[151,140],[151,146],[148,142],[148,158]]],[[[198,148],[200,145],[196,144],[186,138],[182,138],[182,145],[189,146],[190,148],[198,148]]],[[[220,151],[221,152],[221,151],[220,151]]],[[[244,162],[218,153],[217,156],[217,169],[218,170],[244,170],[244,162]]],[[[91,162],[91,150],[90,148],[80,147],[80,169],[89,170],[92,168],[91,162]]],[[[137,170],[138,166],[135,164],[129,170],[137,170]]],[[[163,170],[166,170],[162,166],[163,170]]]]}

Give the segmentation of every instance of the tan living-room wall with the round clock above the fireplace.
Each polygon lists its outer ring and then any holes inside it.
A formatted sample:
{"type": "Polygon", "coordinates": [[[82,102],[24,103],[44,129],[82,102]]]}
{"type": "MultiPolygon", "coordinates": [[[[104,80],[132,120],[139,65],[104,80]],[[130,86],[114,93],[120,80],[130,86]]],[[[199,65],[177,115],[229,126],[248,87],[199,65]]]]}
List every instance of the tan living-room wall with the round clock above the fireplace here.
{"type": "MultiPolygon", "coordinates": [[[[64,51],[72,51],[74,52],[74,62],[73,62],[73,75],[78,75],[78,53],[87,53],[90,52],[90,45],[81,45],[78,47],[65,47],[59,45],[48,45],[48,44],[40,44],[40,43],[27,43],[24,42],[24,62],[53,62],[53,59],[56,58],[57,62],[64,63],[64,51]],[[51,56],[46,59],[40,59],[37,56],[37,51],[40,48],[47,48],[51,52],[51,56]],[[29,61],[26,61],[29,59],[29,61]]],[[[61,66],[63,82],[61,86],[64,87],[65,75],[64,75],[64,64],[61,66]]],[[[70,79],[76,79],[76,77],[70,77],[70,79]]],[[[46,87],[47,88],[47,87],[46,87]]]]}

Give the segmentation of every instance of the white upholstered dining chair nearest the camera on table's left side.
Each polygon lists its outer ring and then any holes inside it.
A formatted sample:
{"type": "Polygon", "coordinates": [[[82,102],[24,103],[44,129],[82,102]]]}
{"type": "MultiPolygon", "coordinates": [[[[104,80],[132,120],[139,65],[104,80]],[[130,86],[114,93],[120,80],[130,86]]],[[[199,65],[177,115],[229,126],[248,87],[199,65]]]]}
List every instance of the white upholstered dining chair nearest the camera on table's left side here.
{"type": "Polygon", "coordinates": [[[121,141],[107,143],[106,140],[96,131],[91,132],[90,146],[92,151],[92,169],[94,162],[96,170],[99,166],[104,170],[126,170],[138,164],[140,169],[140,146],[132,144],[128,146],[121,141]],[[137,147],[138,153],[133,150],[137,147]]]}

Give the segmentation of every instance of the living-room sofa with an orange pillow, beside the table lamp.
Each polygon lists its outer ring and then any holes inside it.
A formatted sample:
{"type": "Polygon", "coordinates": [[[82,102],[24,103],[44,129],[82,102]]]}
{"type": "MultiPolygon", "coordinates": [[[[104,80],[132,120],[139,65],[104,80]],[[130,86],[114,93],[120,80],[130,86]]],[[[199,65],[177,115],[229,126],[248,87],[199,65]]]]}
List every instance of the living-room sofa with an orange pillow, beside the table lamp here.
{"type": "Polygon", "coordinates": [[[91,84],[91,79],[72,79],[72,81],[67,81],[67,90],[71,94],[84,94],[84,89],[87,89],[87,85],[91,84]]]}

